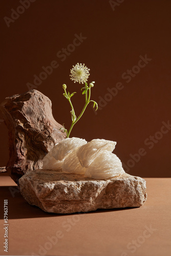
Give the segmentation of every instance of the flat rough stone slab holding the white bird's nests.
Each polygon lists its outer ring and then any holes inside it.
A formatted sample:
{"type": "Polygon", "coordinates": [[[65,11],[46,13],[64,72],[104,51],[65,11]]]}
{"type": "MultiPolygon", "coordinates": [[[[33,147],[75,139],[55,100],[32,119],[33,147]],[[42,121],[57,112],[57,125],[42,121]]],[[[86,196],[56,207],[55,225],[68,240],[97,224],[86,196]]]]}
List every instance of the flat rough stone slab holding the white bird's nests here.
{"type": "Polygon", "coordinates": [[[19,179],[20,192],[29,204],[57,214],[141,206],[147,197],[145,184],[129,174],[94,180],[44,169],[19,179]]]}

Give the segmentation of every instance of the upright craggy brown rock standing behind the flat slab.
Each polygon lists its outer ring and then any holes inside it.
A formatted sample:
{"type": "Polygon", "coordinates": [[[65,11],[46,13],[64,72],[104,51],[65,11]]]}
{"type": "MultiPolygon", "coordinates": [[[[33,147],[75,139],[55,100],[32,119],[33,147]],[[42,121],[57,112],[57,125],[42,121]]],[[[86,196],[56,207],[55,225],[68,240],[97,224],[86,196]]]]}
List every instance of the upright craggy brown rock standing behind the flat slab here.
{"type": "Polygon", "coordinates": [[[17,183],[28,171],[41,168],[45,155],[66,135],[53,118],[50,99],[37,90],[6,98],[0,110],[9,129],[6,169],[17,183]]]}

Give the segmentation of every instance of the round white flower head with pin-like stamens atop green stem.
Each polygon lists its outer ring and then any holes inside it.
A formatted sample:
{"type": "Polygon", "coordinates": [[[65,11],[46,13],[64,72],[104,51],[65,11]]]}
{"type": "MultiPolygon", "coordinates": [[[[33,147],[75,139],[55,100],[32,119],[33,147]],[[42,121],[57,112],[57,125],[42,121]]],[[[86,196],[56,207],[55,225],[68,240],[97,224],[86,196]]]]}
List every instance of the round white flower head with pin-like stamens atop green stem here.
{"type": "Polygon", "coordinates": [[[84,64],[77,63],[75,66],[73,66],[73,69],[71,69],[71,80],[74,80],[74,82],[84,83],[88,80],[88,77],[90,76],[89,70],[84,64]]]}

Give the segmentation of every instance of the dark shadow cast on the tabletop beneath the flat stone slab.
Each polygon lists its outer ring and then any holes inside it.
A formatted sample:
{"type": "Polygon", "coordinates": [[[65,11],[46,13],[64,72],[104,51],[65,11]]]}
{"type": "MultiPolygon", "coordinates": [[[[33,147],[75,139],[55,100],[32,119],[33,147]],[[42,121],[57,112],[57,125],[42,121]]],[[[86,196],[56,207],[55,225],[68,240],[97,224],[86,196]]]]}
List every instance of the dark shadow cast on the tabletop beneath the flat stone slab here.
{"type": "MultiPolygon", "coordinates": [[[[118,211],[118,210],[128,210],[133,209],[131,207],[127,208],[115,208],[115,209],[98,209],[95,211],[88,212],[75,212],[73,214],[54,214],[50,212],[45,212],[39,207],[30,205],[20,194],[17,186],[1,186],[0,187],[1,201],[8,199],[8,219],[27,219],[27,218],[46,218],[46,217],[60,217],[60,216],[70,216],[77,214],[98,214],[100,212],[118,211]]],[[[3,205],[3,202],[1,202],[3,205]]],[[[137,207],[134,207],[137,208],[137,207]]],[[[4,219],[1,213],[0,219],[4,219]]]]}

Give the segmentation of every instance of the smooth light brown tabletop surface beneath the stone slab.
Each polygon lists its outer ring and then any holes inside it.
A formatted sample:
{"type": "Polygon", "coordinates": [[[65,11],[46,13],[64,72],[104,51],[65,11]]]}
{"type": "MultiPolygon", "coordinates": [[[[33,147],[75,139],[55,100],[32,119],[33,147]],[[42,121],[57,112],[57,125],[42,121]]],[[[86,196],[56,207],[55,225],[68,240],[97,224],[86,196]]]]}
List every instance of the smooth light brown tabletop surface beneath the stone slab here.
{"type": "Polygon", "coordinates": [[[139,208],[49,214],[29,205],[8,176],[0,176],[1,255],[171,255],[171,179],[145,178],[139,208]],[[8,252],[4,251],[8,200],[8,252]]]}

